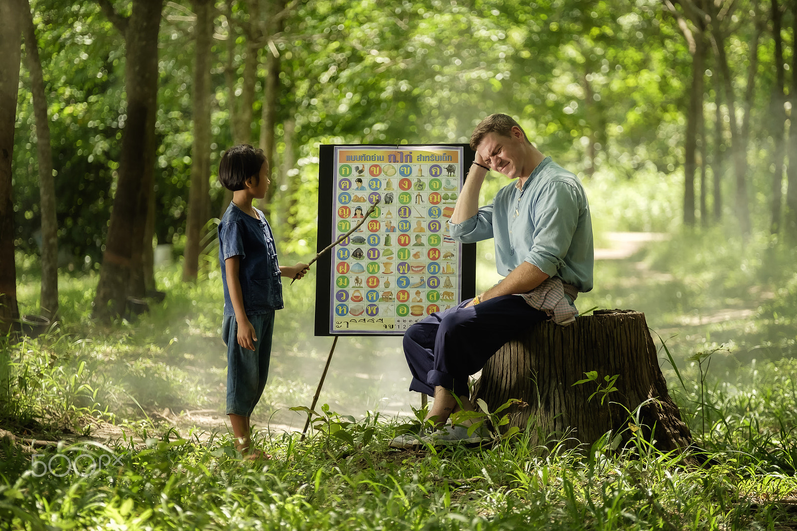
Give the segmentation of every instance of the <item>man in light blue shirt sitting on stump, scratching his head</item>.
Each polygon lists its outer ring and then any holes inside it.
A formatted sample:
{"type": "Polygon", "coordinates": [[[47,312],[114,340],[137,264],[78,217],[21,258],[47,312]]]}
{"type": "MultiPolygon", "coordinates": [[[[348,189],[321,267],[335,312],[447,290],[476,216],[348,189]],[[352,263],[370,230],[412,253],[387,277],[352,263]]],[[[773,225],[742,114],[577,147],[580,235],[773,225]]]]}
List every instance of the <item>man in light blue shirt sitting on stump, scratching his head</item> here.
{"type": "Polygon", "coordinates": [[[468,378],[506,342],[528,327],[552,319],[575,321],[573,301],[592,289],[592,222],[579,179],[535,148],[511,116],[493,114],[470,137],[476,159],[457,198],[451,236],[458,242],[495,240],[498,273],[492,288],[445,312],[433,313],[404,334],[412,372],[410,391],[434,395],[426,419],[437,431],[400,435],[391,446],[423,442],[479,443],[485,431],[447,424],[461,407],[473,410],[468,378]],[[516,179],[493,203],[478,206],[489,170],[516,179]]]}

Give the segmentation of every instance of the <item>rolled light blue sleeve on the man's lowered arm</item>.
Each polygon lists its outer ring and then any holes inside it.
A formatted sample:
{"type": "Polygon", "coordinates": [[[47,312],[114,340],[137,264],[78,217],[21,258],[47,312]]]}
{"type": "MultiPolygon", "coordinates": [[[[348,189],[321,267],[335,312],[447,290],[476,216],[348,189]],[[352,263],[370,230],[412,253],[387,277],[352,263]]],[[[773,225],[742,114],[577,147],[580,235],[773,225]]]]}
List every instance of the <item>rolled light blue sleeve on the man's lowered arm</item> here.
{"type": "Polygon", "coordinates": [[[564,265],[570,250],[579,213],[583,210],[579,196],[570,183],[552,181],[545,194],[541,194],[532,210],[531,250],[524,257],[540,268],[548,277],[556,276],[564,265]]]}

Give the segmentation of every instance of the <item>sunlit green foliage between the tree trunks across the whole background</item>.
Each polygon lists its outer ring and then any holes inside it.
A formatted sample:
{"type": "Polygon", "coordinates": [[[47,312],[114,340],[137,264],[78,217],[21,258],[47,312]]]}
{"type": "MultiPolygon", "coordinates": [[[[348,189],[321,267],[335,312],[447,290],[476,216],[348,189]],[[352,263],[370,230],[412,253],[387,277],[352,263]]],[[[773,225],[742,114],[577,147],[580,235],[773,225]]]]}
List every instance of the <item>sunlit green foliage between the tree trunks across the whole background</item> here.
{"type": "MultiPolygon", "coordinates": [[[[80,267],[88,257],[93,268],[107,229],[126,119],[124,39],[96,3],[36,0],[32,6],[53,129],[61,264],[80,267]]],[[[245,2],[231,6],[238,91],[247,38],[240,23],[252,15],[245,2]]],[[[159,243],[179,244],[186,220],[194,156],[190,10],[189,3],[168,2],[159,37],[159,243]]],[[[225,83],[226,18],[219,14],[214,26],[213,174],[232,141],[230,109],[237,101],[225,83]]],[[[740,23],[729,43],[735,73],[744,72],[750,31],[740,23]]],[[[774,82],[765,67],[771,40],[765,35],[762,42],[758,81],[763,86],[756,92],[753,131],[769,127],[767,112],[759,109],[768,108],[768,86],[774,82]]],[[[517,116],[542,151],[582,176],[596,226],[663,231],[680,224],[691,58],[673,17],[658,2],[300,3],[289,10],[281,35],[258,51],[253,139],[261,132],[262,65],[269,53],[281,61],[273,221],[279,220],[277,234],[292,253],[304,254],[315,244],[319,144],[461,142],[483,116],[496,111],[517,116]],[[287,120],[295,124],[292,139],[285,138],[287,120]]],[[[708,79],[707,116],[717,76],[708,79]]],[[[752,210],[762,213],[758,226],[768,226],[768,134],[754,134],[751,151],[752,210]]],[[[37,252],[35,132],[24,81],[16,141],[17,244],[37,252]]],[[[498,181],[488,182],[485,198],[498,181]]],[[[731,184],[724,184],[726,196],[731,184]]],[[[222,210],[223,190],[214,176],[210,195],[215,214],[222,210]]]]}

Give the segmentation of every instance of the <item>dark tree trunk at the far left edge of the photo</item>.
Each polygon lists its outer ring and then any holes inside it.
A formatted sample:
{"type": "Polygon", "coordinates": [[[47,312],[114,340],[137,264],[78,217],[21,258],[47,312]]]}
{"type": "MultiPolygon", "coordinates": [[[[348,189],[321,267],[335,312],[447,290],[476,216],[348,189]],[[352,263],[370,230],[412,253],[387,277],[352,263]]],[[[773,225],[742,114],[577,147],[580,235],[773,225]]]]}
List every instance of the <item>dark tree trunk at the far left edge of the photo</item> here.
{"type": "MultiPolygon", "coordinates": [[[[17,267],[14,263],[14,189],[11,186],[14,159],[14,124],[17,117],[19,60],[22,50],[22,21],[25,2],[0,2],[0,334],[17,328],[17,267]]],[[[8,389],[8,351],[0,359],[0,398],[8,389]]]]}

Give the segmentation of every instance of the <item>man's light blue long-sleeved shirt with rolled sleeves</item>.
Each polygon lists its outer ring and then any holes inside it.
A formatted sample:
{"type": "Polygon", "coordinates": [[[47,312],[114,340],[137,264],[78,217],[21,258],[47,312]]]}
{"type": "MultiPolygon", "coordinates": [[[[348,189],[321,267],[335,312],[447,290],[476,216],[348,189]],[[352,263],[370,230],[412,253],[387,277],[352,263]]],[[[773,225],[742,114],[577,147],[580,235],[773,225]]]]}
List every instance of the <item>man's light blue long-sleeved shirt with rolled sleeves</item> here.
{"type": "Polygon", "coordinates": [[[509,183],[473,218],[450,223],[462,243],[495,239],[498,273],[528,262],[549,277],[592,289],[595,253],[587,194],[578,177],[545,157],[522,188],[509,183]]]}

